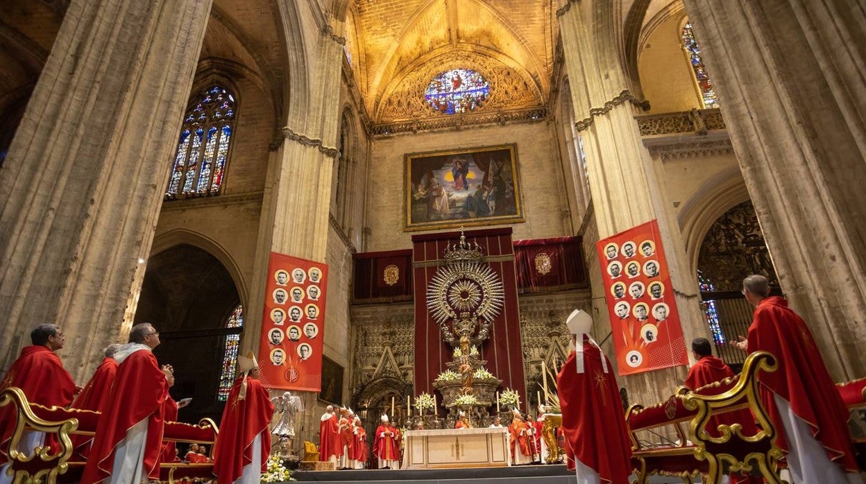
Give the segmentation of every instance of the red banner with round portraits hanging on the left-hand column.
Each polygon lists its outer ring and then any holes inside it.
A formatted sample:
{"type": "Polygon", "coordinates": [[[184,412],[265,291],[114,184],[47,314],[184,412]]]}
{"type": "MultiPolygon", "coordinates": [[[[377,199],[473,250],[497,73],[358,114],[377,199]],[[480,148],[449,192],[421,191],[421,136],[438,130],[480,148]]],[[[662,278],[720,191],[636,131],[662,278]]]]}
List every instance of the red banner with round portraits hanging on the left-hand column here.
{"type": "Polygon", "coordinates": [[[327,265],[271,253],[259,368],[272,388],[320,391],[327,265]]]}

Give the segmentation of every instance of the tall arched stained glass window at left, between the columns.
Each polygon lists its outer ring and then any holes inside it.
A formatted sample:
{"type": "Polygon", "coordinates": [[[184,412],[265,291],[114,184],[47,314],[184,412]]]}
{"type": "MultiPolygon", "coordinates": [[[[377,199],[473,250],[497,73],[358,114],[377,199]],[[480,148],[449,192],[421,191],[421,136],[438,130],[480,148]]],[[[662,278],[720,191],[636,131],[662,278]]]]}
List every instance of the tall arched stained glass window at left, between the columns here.
{"type": "Polygon", "coordinates": [[[235,134],[235,106],[235,96],[225,87],[199,94],[180,130],[166,198],[219,194],[235,134]]]}

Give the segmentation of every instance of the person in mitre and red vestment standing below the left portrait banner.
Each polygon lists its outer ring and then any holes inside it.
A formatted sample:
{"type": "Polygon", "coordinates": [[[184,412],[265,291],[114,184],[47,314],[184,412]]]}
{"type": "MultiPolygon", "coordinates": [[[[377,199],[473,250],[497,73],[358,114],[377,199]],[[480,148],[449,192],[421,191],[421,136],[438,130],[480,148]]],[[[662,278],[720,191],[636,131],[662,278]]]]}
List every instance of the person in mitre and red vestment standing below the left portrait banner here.
{"type": "Polygon", "coordinates": [[[258,379],[253,352],[237,358],[237,371],[241,375],[231,388],[216,437],[214,474],[217,484],[259,484],[262,471],[268,470],[274,403],[258,379]]]}

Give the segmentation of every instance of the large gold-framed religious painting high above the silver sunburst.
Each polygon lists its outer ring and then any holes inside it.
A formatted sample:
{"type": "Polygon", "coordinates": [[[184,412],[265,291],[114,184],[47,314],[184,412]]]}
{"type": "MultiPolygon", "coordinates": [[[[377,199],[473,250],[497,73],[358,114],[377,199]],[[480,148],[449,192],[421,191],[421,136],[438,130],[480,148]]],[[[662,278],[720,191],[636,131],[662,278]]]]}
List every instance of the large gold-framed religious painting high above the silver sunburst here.
{"type": "Polygon", "coordinates": [[[405,230],[523,222],[517,146],[410,153],[405,230]]]}

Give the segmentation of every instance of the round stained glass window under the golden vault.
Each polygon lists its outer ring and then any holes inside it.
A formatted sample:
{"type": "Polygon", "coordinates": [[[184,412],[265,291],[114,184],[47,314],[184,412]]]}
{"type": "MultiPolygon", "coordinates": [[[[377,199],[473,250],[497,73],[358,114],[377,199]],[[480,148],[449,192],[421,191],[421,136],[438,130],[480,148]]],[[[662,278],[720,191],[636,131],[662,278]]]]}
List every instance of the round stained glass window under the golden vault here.
{"type": "Polygon", "coordinates": [[[451,69],[434,77],[424,99],[443,114],[467,113],[487,100],[490,85],[470,69],[451,69]]]}

